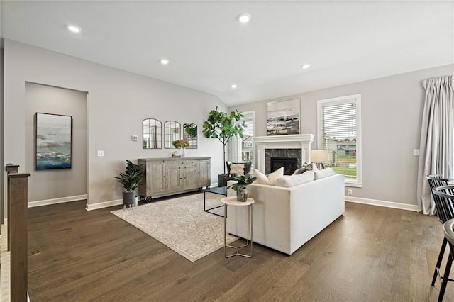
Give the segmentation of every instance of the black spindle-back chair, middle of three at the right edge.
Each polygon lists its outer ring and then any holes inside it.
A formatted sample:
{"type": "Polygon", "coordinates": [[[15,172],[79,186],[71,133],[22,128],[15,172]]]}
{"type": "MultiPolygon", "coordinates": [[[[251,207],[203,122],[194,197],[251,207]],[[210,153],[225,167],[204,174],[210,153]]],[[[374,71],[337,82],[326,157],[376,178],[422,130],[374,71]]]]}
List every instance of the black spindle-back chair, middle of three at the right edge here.
{"type": "MultiPolygon", "coordinates": [[[[444,220],[443,225],[445,225],[446,221],[454,219],[454,186],[438,186],[435,189],[432,189],[433,199],[435,201],[435,205],[438,211],[438,218],[440,220],[444,220]]],[[[448,238],[445,236],[443,238],[443,243],[441,245],[441,251],[438,255],[438,261],[436,266],[436,274],[440,276],[440,272],[438,269],[441,265],[441,259],[443,259],[444,250],[446,244],[448,242],[448,238]]],[[[451,252],[453,252],[452,247],[450,247],[451,252]]],[[[445,273],[443,274],[443,278],[441,278],[441,287],[440,293],[438,295],[438,301],[443,301],[443,296],[445,294],[446,284],[448,281],[454,281],[453,279],[449,279],[449,273],[451,270],[451,265],[453,264],[453,258],[450,256],[448,258],[448,263],[446,263],[445,273]]],[[[436,274],[434,273],[434,278],[436,278],[436,274]]],[[[435,280],[432,280],[432,286],[435,284],[435,280]]]]}

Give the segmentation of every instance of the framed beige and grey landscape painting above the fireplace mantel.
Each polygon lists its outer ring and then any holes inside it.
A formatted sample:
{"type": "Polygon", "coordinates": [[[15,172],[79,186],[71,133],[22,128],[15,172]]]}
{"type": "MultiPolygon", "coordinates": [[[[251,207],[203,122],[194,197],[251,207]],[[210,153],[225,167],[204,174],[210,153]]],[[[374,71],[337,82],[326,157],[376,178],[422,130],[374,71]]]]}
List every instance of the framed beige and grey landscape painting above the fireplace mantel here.
{"type": "Polygon", "coordinates": [[[299,134],[299,99],[267,103],[267,135],[299,134]]]}

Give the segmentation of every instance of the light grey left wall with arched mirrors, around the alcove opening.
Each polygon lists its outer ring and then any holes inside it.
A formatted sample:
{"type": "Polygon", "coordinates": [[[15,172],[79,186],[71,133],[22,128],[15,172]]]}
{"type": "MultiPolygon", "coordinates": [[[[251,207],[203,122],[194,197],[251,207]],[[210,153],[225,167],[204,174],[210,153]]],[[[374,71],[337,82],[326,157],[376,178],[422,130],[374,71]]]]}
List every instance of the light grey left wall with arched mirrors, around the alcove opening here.
{"type": "Polygon", "coordinates": [[[226,110],[216,96],[7,39],[4,55],[4,162],[19,164],[20,172],[33,170],[26,161],[25,95],[26,82],[33,82],[88,92],[89,206],[121,199],[114,177],[126,159],[171,155],[171,149],[143,150],[140,140],[131,141],[131,135],[142,134],[144,118],[196,123],[199,148],[186,150],[186,155],[211,156],[211,182],[217,182],[222,145],[201,133],[211,109],[226,110]],[[96,150],[106,156],[97,157],[96,150]]]}

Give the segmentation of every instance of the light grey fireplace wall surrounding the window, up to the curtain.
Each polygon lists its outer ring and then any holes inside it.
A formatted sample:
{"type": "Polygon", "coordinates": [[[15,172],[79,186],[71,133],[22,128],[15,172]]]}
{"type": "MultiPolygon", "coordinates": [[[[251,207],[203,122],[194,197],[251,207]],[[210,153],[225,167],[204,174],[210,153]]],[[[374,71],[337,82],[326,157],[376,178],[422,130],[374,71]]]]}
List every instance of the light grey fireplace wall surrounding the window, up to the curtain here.
{"type": "MultiPolygon", "coordinates": [[[[413,155],[413,149],[419,149],[421,134],[425,97],[422,81],[453,72],[454,65],[447,65],[258,101],[236,108],[239,111],[255,110],[255,135],[260,136],[266,135],[267,102],[300,98],[301,133],[317,135],[317,100],[361,94],[363,185],[362,188],[348,188],[353,190],[352,199],[358,198],[357,201],[367,203],[388,201],[404,208],[416,208],[418,157],[413,155]]],[[[317,142],[316,137],[314,149],[317,142]]]]}

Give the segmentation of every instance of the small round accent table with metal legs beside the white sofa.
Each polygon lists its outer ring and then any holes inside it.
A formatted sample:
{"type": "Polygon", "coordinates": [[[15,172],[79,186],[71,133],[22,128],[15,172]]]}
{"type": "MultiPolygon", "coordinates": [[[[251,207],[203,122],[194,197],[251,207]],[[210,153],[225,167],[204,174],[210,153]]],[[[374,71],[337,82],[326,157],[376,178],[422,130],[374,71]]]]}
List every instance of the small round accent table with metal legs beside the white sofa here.
{"type": "Polygon", "coordinates": [[[247,201],[238,201],[236,197],[226,197],[222,198],[221,202],[224,204],[224,257],[232,257],[232,256],[243,256],[251,258],[253,257],[253,203],[255,202],[253,198],[248,198],[247,201]],[[233,245],[226,244],[226,237],[227,237],[227,230],[226,230],[226,223],[227,223],[227,206],[247,206],[248,207],[248,235],[246,236],[246,244],[240,245],[238,247],[234,247],[233,245]],[[250,255],[246,255],[240,253],[238,249],[241,247],[248,247],[250,243],[250,255]],[[236,250],[235,253],[231,255],[227,255],[227,247],[233,248],[236,250]]]}

